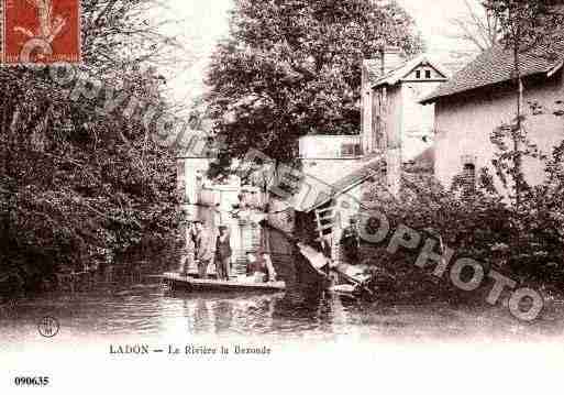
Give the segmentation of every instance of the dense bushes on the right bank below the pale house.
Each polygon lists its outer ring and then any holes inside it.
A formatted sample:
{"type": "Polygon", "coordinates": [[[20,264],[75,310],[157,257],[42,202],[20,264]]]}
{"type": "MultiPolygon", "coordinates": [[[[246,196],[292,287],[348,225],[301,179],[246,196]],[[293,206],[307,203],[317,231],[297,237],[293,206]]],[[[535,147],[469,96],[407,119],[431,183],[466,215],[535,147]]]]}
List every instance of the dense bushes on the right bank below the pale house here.
{"type": "MultiPolygon", "coordinates": [[[[486,273],[495,268],[519,286],[562,296],[564,141],[543,157],[537,150],[513,147],[511,131],[507,125],[491,131],[496,173],[479,169],[475,189],[468,188],[462,175],[453,179],[451,188],[445,189],[431,173],[408,171],[403,173],[398,198],[389,195],[381,183],[375,183],[365,191],[363,204],[366,212],[385,213],[391,231],[383,243],[364,243],[363,259],[381,266],[391,276],[392,282],[388,285],[394,288],[390,293],[394,298],[403,295],[407,299],[417,296],[421,300],[460,300],[480,295],[455,289],[446,274],[441,281],[433,277],[431,273],[435,265],[431,264],[428,270],[414,265],[429,238],[436,241],[435,253],[444,253],[445,246],[455,251],[451,264],[458,257],[472,257],[483,264],[486,273]],[[524,183],[522,173],[515,167],[516,155],[530,155],[542,161],[545,179],[539,185],[524,183]],[[496,183],[496,178],[501,182],[496,183]],[[522,180],[519,184],[519,206],[515,199],[517,184],[508,179],[522,180]],[[496,185],[500,187],[496,188],[496,185]],[[398,253],[389,254],[386,248],[399,226],[417,230],[421,241],[414,249],[400,249],[398,253]]],[[[379,221],[373,223],[374,229],[380,226],[379,221]]],[[[489,290],[487,286],[482,290],[486,292],[486,288],[489,290]]]]}

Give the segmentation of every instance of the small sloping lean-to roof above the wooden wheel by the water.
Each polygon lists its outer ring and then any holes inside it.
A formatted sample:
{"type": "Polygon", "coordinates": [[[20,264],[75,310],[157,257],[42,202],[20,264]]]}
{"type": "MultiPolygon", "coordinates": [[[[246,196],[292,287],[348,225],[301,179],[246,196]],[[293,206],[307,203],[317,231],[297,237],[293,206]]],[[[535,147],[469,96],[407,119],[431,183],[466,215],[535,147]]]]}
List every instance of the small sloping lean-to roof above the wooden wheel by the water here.
{"type": "Polygon", "coordinates": [[[371,177],[386,168],[386,161],[381,154],[372,154],[366,157],[367,163],[350,174],[343,176],[330,186],[330,194],[320,194],[312,207],[308,211],[324,205],[329,200],[346,194],[349,190],[368,180],[371,177]]]}

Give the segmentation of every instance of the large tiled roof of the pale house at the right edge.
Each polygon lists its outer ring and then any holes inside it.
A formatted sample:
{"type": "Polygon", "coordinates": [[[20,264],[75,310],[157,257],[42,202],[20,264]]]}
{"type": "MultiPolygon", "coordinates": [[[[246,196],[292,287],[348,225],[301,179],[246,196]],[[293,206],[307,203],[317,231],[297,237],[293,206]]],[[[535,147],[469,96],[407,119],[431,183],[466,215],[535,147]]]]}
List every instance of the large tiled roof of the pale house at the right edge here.
{"type": "MultiPolygon", "coordinates": [[[[562,51],[557,56],[552,50],[535,48],[520,55],[520,70],[523,77],[545,74],[548,77],[557,72],[564,61],[562,51]]],[[[496,45],[483,52],[466,67],[456,73],[449,81],[441,84],[436,90],[420,100],[422,105],[468,90],[478,89],[510,80],[513,74],[513,55],[511,50],[496,45]]]]}

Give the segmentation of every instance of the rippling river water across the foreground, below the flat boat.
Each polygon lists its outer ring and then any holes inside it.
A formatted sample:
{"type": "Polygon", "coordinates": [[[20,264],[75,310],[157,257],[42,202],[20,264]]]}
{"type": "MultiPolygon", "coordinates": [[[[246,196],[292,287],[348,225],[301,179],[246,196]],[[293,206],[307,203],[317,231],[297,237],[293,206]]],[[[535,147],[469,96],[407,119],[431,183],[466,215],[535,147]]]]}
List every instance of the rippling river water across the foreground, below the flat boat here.
{"type": "MultiPolygon", "coordinates": [[[[73,338],[120,336],[267,337],[383,341],[538,341],[561,337],[564,306],[520,322],[502,307],[363,304],[334,295],[288,290],[274,295],[170,293],[159,284],[121,285],[25,299],[0,309],[2,343],[36,339],[37,322],[55,317],[73,338]]],[[[40,338],[41,339],[41,338],[40,338]]]]}

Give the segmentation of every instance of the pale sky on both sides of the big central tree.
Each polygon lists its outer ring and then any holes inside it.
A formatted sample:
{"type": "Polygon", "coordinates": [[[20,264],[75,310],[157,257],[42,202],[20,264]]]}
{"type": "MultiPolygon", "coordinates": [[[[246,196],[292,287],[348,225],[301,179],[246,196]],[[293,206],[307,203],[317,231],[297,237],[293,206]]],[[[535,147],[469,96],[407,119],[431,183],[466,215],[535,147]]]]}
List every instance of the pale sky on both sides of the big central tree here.
{"type": "MultiPolygon", "coordinates": [[[[346,0],[343,0],[346,1],[346,0]]],[[[477,0],[471,0],[477,4],[477,0]]],[[[449,59],[447,52],[460,42],[450,39],[449,20],[465,10],[464,0],[398,0],[416,24],[427,43],[428,53],[440,62],[449,59]]],[[[170,94],[176,100],[190,102],[202,92],[202,78],[218,40],[229,33],[229,10],[232,0],[164,0],[163,15],[178,22],[169,23],[166,33],[185,45],[178,52],[175,75],[170,79],[170,94]],[[181,70],[181,72],[178,72],[181,70]]]]}

